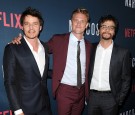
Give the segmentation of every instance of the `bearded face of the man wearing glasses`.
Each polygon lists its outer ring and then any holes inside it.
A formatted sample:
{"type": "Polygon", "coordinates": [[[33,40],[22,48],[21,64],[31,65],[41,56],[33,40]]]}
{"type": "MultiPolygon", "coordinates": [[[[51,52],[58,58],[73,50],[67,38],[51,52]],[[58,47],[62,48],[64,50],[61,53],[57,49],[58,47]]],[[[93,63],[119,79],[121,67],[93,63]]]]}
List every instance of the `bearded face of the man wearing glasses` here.
{"type": "Polygon", "coordinates": [[[112,40],[115,35],[115,24],[113,21],[105,21],[99,29],[100,38],[104,40],[112,40]]]}

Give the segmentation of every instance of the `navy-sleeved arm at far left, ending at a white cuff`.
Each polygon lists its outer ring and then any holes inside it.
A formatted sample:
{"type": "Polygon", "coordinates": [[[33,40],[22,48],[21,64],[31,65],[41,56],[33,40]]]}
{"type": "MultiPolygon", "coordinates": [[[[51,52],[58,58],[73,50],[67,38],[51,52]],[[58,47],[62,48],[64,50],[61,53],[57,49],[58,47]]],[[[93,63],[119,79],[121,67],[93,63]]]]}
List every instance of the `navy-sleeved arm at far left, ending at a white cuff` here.
{"type": "Polygon", "coordinates": [[[4,85],[10,107],[13,111],[20,109],[15,77],[16,60],[10,45],[5,47],[3,57],[4,85]]]}

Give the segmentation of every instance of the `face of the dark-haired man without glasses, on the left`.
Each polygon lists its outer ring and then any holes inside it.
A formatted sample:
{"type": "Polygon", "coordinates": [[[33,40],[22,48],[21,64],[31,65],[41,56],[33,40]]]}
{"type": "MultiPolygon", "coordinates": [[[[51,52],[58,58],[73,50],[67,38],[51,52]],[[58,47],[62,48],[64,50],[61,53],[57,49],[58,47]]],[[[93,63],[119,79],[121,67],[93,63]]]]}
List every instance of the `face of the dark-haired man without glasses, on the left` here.
{"type": "Polygon", "coordinates": [[[26,38],[28,39],[38,38],[41,29],[42,27],[40,26],[40,22],[37,17],[27,15],[24,18],[22,30],[24,31],[26,38]]]}

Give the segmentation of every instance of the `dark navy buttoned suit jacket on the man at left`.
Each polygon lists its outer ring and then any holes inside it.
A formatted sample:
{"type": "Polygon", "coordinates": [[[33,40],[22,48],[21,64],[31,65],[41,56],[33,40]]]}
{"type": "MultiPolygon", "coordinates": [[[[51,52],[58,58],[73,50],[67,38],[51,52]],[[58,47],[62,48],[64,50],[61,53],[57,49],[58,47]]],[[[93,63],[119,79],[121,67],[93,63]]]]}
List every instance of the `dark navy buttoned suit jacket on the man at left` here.
{"type": "Polygon", "coordinates": [[[35,58],[24,39],[20,45],[8,44],[3,57],[4,84],[11,109],[38,112],[49,108],[47,90],[48,48],[45,48],[45,70],[40,75],[35,58]]]}

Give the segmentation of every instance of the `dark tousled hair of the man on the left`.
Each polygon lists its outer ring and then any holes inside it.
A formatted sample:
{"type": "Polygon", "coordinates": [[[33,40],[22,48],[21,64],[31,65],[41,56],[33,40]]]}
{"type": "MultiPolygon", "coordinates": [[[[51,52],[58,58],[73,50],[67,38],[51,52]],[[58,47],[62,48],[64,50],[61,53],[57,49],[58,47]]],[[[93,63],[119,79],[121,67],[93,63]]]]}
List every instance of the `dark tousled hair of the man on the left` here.
{"type": "Polygon", "coordinates": [[[24,18],[27,15],[31,15],[31,16],[37,17],[39,19],[39,21],[40,21],[40,25],[43,26],[44,20],[42,18],[41,13],[38,10],[36,10],[34,8],[31,8],[31,7],[27,7],[26,10],[24,12],[22,12],[21,19],[20,19],[21,25],[23,25],[24,18]]]}

